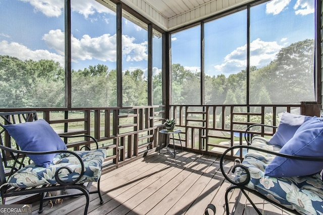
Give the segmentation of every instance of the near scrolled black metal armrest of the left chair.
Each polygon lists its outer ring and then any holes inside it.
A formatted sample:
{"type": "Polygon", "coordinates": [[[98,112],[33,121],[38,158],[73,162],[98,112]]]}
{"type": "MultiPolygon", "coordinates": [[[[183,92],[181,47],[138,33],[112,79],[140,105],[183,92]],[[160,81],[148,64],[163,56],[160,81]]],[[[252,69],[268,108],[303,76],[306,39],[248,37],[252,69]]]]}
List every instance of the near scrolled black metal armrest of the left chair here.
{"type": "Polygon", "coordinates": [[[15,158],[14,159],[14,165],[11,167],[11,171],[10,171],[10,176],[13,175],[13,173],[15,173],[16,171],[18,171],[19,169],[21,169],[21,167],[23,166],[23,162],[18,162],[18,159],[19,159],[19,155],[23,155],[23,159],[28,156],[28,155],[46,155],[46,154],[57,154],[57,153],[67,153],[67,154],[72,154],[74,155],[80,162],[80,165],[81,165],[81,172],[80,172],[80,175],[75,178],[72,182],[70,183],[66,183],[64,181],[62,181],[60,178],[59,178],[59,172],[62,170],[62,169],[67,169],[69,171],[69,173],[72,173],[72,170],[69,168],[69,167],[61,167],[59,169],[56,170],[55,172],[55,179],[56,181],[60,184],[60,185],[73,185],[73,184],[76,184],[80,179],[81,177],[83,176],[84,174],[84,162],[82,160],[82,158],[76,154],[75,152],[73,151],[69,151],[69,150],[56,150],[56,151],[46,151],[46,152],[31,152],[31,151],[22,151],[22,150],[15,150],[15,149],[11,149],[9,147],[5,147],[5,146],[2,146],[0,145],[0,149],[2,151],[7,151],[9,152],[11,155],[12,155],[12,158],[15,158]],[[17,156],[13,156],[13,154],[17,154],[17,156]],[[20,166],[18,167],[18,169],[16,168],[16,164],[20,164],[20,166]]]}

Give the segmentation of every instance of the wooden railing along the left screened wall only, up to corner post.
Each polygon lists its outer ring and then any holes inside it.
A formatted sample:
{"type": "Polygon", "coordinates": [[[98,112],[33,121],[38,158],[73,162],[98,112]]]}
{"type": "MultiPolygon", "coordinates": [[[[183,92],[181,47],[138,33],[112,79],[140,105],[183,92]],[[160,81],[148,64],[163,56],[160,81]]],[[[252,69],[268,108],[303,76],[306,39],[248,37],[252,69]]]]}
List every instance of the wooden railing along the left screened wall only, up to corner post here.
{"type": "MultiPolygon", "coordinates": [[[[88,134],[94,136],[99,148],[106,149],[103,172],[117,168],[157,147],[158,131],[163,129],[165,106],[109,108],[12,108],[0,112],[36,110],[59,134],[88,134]]],[[[74,138],[73,138],[74,139],[74,138]]],[[[67,139],[65,140],[67,141],[67,139]]],[[[67,142],[72,150],[84,143],[94,148],[93,141],[80,137],[67,142]]]]}

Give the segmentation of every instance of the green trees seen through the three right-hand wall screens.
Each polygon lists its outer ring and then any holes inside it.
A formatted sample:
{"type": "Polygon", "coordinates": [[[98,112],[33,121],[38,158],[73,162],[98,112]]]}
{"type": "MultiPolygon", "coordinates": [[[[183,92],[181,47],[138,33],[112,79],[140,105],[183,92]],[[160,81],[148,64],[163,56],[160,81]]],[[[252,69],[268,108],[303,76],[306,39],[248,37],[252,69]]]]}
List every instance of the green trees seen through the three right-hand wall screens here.
{"type": "MultiPolygon", "coordinates": [[[[314,40],[282,48],[270,64],[250,66],[250,104],[299,104],[314,98],[314,40]]],[[[172,65],[172,104],[199,104],[200,81],[180,64],[172,65]],[[194,99],[194,100],[192,100],[194,99]]],[[[196,76],[197,77],[197,76],[196,76]]],[[[247,70],[237,74],[205,76],[204,103],[247,103],[247,70]]],[[[256,109],[255,109],[256,111],[256,109]]]]}

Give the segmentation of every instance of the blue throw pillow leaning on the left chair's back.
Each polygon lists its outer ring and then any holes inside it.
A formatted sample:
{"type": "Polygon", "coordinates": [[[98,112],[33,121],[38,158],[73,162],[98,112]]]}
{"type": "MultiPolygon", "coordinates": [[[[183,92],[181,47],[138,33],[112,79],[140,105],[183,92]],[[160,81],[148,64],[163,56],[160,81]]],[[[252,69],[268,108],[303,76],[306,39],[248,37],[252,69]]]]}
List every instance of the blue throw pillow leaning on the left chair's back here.
{"type": "MultiPolygon", "coordinates": [[[[46,152],[66,150],[65,142],[43,119],[13,125],[5,125],[5,129],[16,140],[23,151],[46,152]]],[[[54,154],[29,155],[38,166],[48,167],[54,154]]]]}

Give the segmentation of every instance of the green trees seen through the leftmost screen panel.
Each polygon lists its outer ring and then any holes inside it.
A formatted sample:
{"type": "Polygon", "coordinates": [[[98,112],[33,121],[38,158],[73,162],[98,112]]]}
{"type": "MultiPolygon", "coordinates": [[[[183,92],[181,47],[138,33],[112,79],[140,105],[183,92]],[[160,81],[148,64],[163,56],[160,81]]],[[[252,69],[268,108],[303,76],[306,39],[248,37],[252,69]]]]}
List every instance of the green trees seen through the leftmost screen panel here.
{"type": "Polygon", "coordinates": [[[63,107],[64,78],[64,69],[53,60],[22,61],[0,55],[0,104],[7,108],[63,107]]]}

